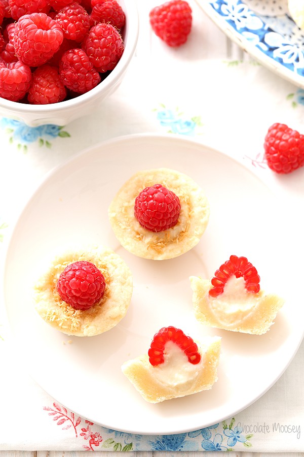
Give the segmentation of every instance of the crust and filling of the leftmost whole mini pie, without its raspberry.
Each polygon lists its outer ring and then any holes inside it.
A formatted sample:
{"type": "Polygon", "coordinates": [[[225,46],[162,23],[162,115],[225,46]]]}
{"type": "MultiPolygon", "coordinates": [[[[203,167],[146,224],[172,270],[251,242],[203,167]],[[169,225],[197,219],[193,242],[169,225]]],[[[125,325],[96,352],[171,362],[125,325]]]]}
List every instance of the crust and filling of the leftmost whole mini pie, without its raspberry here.
{"type": "Polygon", "coordinates": [[[52,327],[67,335],[93,336],[110,330],[125,316],[132,296],[132,274],[122,258],[108,248],[68,252],[54,259],[34,287],[35,309],[52,327]],[[57,282],[74,262],[90,262],[102,273],[102,298],[89,309],[74,309],[61,299],[57,282]]]}

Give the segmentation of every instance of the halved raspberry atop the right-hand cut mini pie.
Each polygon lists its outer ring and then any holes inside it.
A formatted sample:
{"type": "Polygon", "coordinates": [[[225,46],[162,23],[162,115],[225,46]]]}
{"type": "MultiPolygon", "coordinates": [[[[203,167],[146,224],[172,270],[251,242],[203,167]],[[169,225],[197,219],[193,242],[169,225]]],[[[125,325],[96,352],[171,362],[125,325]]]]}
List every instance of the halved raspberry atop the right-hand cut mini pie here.
{"type": "Polygon", "coordinates": [[[256,268],[248,262],[246,257],[231,255],[229,260],[226,260],[214,273],[214,277],[211,279],[213,288],[209,290],[209,295],[211,297],[220,295],[224,290],[227,280],[233,275],[236,278],[243,276],[248,292],[257,293],[259,291],[260,277],[257,274],[256,268]]]}

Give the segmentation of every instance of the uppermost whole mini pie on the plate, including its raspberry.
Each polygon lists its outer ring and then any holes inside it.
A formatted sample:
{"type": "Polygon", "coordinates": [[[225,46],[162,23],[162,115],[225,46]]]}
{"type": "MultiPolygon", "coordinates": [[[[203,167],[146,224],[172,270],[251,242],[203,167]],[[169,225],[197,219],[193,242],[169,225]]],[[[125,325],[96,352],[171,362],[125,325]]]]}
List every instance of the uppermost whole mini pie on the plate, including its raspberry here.
{"type": "Polygon", "coordinates": [[[209,203],[192,178],[159,168],[134,174],[113,198],[108,215],[126,250],[164,260],[198,244],[208,224],[209,203]]]}

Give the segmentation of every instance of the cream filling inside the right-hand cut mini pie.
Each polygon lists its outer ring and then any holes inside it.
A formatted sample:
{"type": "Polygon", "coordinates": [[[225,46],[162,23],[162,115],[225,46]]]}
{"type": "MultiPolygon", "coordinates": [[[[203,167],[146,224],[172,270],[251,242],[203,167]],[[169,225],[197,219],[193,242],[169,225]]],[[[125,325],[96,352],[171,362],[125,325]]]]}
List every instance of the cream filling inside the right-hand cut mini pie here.
{"type": "Polygon", "coordinates": [[[226,325],[234,325],[247,317],[256,306],[258,297],[256,293],[248,292],[245,288],[244,278],[231,276],[223,292],[213,298],[209,295],[209,306],[217,320],[226,325]]]}

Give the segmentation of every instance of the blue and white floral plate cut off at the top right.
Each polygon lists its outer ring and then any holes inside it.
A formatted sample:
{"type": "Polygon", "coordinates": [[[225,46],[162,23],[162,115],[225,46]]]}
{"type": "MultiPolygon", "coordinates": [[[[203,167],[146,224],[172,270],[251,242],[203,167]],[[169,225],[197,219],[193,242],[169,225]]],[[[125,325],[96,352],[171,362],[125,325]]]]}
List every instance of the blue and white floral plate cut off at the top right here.
{"type": "Polygon", "coordinates": [[[196,0],[218,27],[265,67],[304,88],[304,32],[287,0],[196,0]]]}

